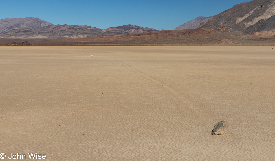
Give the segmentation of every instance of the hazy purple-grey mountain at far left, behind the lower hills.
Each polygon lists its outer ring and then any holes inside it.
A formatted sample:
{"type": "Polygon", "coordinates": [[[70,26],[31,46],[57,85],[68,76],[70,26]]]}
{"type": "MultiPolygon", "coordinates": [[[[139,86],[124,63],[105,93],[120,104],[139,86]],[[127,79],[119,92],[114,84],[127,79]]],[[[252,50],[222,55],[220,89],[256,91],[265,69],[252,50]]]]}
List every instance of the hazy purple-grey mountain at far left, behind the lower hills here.
{"type": "Polygon", "coordinates": [[[10,31],[12,29],[30,28],[32,30],[40,29],[44,26],[52,25],[47,21],[39,18],[26,17],[26,18],[6,18],[0,20],[0,33],[10,31]]]}

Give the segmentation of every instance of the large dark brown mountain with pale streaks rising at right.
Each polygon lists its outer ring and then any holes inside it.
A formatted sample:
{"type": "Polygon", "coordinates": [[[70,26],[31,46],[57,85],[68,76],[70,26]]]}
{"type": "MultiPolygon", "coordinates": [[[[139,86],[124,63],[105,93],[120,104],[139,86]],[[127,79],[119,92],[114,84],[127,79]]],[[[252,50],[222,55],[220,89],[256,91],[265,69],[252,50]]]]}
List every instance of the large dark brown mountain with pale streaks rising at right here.
{"type": "MultiPolygon", "coordinates": [[[[267,20],[273,15],[275,15],[274,0],[254,0],[237,4],[199,24],[196,28],[205,27],[208,29],[241,31],[260,20],[267,20]]],[[[261,31],[261,28],[258,28],[258,31],[261,31]]]]}

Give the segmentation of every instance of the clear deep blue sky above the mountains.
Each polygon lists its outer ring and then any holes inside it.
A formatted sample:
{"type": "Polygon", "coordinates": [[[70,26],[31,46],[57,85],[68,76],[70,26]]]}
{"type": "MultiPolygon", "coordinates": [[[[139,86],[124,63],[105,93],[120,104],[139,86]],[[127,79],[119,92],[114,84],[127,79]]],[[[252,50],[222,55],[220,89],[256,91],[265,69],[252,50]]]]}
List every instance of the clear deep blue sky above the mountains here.
{"type": "Polygon", "coordinates": [[[0,1],[0,19],[38,17],[53,24],[88,25],[102,29],[132,24],[168,30],[198,16],[212,16],[249,1],[0,1]]]}

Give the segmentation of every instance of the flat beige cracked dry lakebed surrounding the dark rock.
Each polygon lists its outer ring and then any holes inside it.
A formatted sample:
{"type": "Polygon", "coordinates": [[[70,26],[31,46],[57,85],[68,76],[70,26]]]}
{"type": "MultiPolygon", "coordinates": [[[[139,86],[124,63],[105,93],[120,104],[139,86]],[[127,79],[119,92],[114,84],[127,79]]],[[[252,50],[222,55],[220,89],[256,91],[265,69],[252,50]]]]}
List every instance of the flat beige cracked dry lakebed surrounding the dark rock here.
{"type": "Polygon", "coordinates": [[[273,161],[272,48],[2,46],[0,153],[273,161]]]}

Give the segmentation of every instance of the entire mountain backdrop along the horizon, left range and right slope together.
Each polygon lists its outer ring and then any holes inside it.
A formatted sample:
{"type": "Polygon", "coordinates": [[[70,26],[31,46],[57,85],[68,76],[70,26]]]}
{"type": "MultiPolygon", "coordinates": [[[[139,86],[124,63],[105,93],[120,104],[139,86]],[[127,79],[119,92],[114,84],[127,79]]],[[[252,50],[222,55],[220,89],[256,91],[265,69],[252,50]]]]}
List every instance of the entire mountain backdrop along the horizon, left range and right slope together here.
{"type": "MultiPolygon", "coordinates": [[[[253,0],[237,4],[214,16],[197,17],[176,27],[174,30],[198,28],[209,29],[215,33],[242,31],[244,34],[254,33],[254,35],[257,35],[257,33],[263,35],[263,32],[265,32],[264,35],[266,33],[274,34],[274,32],[269,31],[275,29],[275,1],[253,0]]],[[[170,32],[171,30],[166,31],[173,33],[170,32]]],[[[102,35],[127,35],[147,32],[158,32],[159,35],[164,33],[162,30],[130,24],[99,29],[87,25],[54,25],[32,17],[0,20],[0,38],[91,38],[102,35]]],[[[175,35],[175,33],[173,34],[175,35]]]]}

